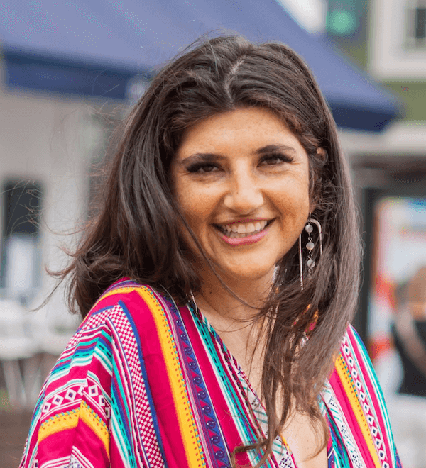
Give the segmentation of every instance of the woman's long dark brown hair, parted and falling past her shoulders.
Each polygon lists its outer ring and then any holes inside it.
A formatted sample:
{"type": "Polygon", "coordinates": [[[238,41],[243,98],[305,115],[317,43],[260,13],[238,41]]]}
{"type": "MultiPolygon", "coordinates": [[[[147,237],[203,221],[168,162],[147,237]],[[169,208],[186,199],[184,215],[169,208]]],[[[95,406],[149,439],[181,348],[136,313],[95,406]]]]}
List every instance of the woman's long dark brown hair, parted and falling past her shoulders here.
{"type": "Polygon", "coordinates": [[[268,437],[259,435],[235,452],[258,449],[261,466],[293,408],[323,429],[319,446],[324,447],[327,425],[318,396],[353,316],[359,287],[359,228],[349,172],[329,107],[292,49],[221,36],[193,45],[161,69],[121,128],[102,204],[60,277],[70,275],[71,306],[75,310],[77,305],[82,316],[124,276],[161,286],[185,303],[200,282],[180,233],[185,220],[170,189],[170,162],[187,128],[248,106],[275,113],[307,152],[312,218],[321,223],[323,240],[322,256],[316,254],[310,274],[303,260],[303,289],[297,243],[280,260],[271,296],[260,311],[268,318],[262,374],[268,437]]]}

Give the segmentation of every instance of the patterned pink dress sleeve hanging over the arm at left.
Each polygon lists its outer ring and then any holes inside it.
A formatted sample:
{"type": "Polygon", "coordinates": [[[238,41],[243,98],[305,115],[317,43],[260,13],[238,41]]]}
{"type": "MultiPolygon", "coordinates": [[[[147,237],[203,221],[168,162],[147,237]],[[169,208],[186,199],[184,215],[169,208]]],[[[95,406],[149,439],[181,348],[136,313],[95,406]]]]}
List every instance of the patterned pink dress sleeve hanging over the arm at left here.
{"type": "Polygon", "coordinates": [[[72,337],[40,393],[21,468],[109,467],[111,341],[97,314],[72,337]]]}

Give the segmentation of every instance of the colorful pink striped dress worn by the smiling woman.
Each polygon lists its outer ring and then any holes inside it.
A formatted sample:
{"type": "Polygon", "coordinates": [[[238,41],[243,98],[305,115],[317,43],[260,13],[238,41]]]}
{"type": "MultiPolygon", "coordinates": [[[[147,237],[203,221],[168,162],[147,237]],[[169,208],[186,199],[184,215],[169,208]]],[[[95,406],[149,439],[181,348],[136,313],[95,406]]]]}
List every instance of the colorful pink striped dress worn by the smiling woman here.
{"type": "MultiPolygon", "coordinates": [[[[352,328],[321,395],[329,468],[397,468],[385,403],[352,328]]],[[[40,394],[21,468],[229,468],[263,406],[199,311],[123,280],[97,301],[40,394]]],[[[256,464],[254,451],[236,457],[256,464]]],[[[297,468],[285,440],[265,467],[297,468]]]]}

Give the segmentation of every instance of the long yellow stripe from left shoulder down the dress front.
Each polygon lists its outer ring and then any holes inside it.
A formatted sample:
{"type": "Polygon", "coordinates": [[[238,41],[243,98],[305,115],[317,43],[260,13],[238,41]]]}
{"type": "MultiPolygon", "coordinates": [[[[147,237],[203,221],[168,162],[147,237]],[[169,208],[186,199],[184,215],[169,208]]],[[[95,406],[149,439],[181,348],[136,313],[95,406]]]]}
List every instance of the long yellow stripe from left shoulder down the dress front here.
{"type": "Polygon", "coordinates": [[[178,352],[175,349],[173,335],[163,306],[146,286],[125,286],[123,288],[112,289],[104,294],[99,301],[114,294],[126,294],[133,291],[138,292],[150,309],[158,330],[158,338],[161,350],[163,351],[170,389],[175,403],[176,416],[178,416],[180,434],[182,435],[183,446],[187,455],[187,466],[189,468],[205,467],[200,435],[195,425],[195,418],[187,396],[178,352]]]}

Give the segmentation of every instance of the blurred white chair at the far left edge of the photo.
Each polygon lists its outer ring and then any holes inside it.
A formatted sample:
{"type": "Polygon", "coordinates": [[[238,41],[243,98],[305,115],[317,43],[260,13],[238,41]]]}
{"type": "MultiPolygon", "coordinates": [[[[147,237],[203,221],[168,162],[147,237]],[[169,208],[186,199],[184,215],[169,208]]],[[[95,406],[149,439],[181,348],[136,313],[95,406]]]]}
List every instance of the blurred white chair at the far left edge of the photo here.
{"type": "Polygon", "coordinates": [[[16,301],[0,299],[0,362],[9,403],[22,408],[28,403],[21,360],[37,352],[37,344],[28,333],[26,311],[16,301]]]}

